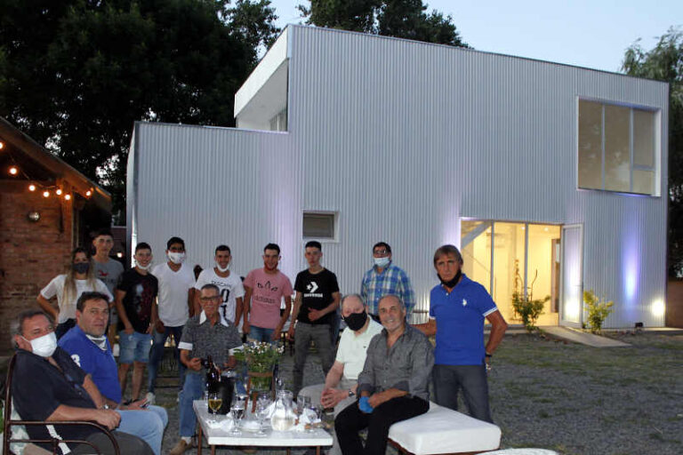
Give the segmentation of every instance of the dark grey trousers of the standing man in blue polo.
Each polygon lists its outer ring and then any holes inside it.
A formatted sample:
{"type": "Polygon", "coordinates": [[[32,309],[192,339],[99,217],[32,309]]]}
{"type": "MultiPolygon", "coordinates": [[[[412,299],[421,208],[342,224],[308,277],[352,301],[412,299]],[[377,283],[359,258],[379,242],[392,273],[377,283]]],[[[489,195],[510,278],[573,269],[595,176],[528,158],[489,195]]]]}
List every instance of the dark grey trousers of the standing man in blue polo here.
{"type": "Polygon", "coordinates": [[[486,365],[440,365],[431,370],[434,380],[434,401],[439,406],[458,410],[458,393],[462,389],[470,416],[494,423],[488,408],[486,365]]]}

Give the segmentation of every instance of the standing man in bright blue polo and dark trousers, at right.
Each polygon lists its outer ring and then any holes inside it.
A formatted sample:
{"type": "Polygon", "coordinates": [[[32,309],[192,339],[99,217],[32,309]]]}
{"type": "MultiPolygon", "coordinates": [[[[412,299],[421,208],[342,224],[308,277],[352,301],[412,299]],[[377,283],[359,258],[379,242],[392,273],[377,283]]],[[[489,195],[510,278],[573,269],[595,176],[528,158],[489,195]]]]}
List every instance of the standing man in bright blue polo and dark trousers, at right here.
{"type": "Polygon", "coordinates": [[[454,245],[438,248],[434,268],[441,283],[430,293],[430,322],[416,325],[428,336],[437,335],[434,399],[457,411],[462,389],[470,416],[493,422],[486,370],[508,324],[484,286],[462,274],[462,255],[454,245]],[[491,323],[486,347],[485,317],[491,323]]]}

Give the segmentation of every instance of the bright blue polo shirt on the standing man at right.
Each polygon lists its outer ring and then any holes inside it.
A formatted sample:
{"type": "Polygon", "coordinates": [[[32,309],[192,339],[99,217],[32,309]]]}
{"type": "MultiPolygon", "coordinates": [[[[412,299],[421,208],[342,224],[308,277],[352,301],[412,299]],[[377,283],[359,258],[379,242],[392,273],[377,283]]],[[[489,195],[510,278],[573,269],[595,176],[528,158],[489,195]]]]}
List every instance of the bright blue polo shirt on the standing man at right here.
{"type": "Polygon", "coordinates": [[[497,309],[486,288],[464,274],[450,293],[442,284],[434,286],[430,292],[430,318],[437,320],[435,363],[484,363],[484,318],[497,309]]]}

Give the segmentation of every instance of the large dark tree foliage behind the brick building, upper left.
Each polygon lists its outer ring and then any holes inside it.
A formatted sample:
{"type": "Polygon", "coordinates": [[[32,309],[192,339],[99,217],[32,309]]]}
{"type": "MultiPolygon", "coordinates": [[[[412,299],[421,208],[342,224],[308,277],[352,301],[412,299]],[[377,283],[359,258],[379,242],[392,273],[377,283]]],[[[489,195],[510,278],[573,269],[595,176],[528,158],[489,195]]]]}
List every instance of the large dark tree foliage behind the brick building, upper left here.
{"type": "Polygon", "coordinates": [[[269,0],[0,0],[0,116],[124,202],[136,120],[233,125],[269,0]]]}

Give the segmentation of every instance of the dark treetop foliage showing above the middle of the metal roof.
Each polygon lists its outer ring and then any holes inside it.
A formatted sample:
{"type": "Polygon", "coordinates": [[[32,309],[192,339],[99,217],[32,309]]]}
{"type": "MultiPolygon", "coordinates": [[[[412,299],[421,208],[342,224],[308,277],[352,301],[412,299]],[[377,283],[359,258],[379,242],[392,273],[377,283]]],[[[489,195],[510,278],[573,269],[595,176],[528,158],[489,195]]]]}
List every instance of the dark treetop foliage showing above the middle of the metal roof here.
{"type": "Polygon", "coordinates": [[[468,47],[441,12],[427,13],[422,0],[310,0],[300,4],[306,23],[427,43],[468,47]]]}

